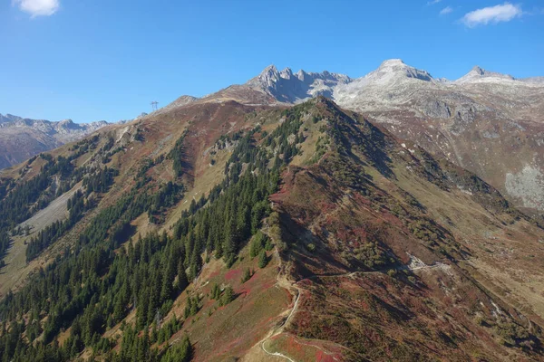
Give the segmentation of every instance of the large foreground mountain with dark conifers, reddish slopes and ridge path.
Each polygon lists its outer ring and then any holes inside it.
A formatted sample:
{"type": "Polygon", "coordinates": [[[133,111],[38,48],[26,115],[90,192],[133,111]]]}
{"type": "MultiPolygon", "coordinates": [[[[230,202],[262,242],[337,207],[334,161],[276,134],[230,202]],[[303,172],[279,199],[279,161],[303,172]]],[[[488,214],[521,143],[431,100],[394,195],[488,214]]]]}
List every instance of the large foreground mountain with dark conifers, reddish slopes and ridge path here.
{"type": "MultiPolygon", "coordinates": [[[[399,62],[367,81],[405,79],[442,84],[399,62]]],[[[542,220],[417,140],[277,89],[232,86],[0,172],[0,355],[542,360],[542,220]]]]}

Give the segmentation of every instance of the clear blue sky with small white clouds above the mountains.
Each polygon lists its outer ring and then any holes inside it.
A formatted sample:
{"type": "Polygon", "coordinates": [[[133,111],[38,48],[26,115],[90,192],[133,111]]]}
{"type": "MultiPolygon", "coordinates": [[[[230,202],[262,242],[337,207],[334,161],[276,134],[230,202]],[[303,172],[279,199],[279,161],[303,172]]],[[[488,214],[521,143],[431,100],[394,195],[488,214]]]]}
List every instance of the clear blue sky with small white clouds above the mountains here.
{"type": "Polygon", "coordinates": [[[0,113],[131,119],[267,65],[351,77],[401,58],[456,79],[544,75],[544,4],[480,0],[0,0],[0,113]]]}

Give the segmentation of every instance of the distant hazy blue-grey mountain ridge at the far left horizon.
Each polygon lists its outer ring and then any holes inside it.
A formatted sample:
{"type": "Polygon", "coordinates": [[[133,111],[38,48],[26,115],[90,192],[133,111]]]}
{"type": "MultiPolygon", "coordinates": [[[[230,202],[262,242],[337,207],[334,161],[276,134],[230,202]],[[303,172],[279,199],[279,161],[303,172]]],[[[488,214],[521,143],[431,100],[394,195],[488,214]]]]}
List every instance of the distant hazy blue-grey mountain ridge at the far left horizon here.
{"type": "Polygon", "coordinates": [[[108,124],[104,120],[77,124],[72,119],[52,122],[0,114],[0,168],[81,139],[108,124]]]}

